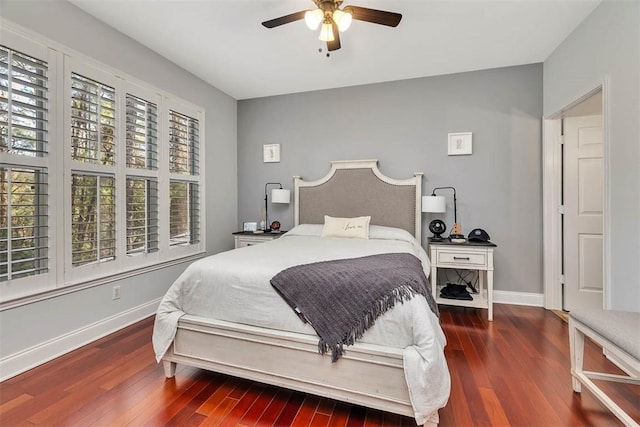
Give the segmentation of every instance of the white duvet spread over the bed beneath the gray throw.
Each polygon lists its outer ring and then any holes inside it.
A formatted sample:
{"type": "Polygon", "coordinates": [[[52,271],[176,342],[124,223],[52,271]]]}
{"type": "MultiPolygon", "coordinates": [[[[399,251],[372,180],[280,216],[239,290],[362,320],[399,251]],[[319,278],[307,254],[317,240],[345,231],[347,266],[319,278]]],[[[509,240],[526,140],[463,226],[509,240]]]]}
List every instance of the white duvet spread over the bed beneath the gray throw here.
{"type": "MultiPolygon", "coordinates": [[[[404,230],[371,226],[368,240],[320,237],[321,231],[322,225],[299,225],[277,240],[191,264],[158,307],[153,330],[157,360],[171,345],[178,319],[184,314],[316,335],[270,284],[274,275],[295,265],[407,252],[422,261],[429,275],[425,251],[404,230]]],[[[423,296],[387,311],[359,341],[404,349],[405,379],[419,425],[447,403],[450,376],[444,358],[446,340],[423,296]]],[[[348,354],[348,347],[346,351],[348,354]]]]}

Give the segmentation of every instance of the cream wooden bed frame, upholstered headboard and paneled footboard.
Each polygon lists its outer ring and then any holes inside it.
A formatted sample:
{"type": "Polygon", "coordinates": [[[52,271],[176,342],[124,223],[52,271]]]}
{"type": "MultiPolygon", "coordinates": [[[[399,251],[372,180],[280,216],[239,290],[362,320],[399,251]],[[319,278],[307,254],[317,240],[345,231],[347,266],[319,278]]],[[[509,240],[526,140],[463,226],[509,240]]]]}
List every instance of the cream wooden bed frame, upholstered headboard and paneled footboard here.
{"type": "MultiPolygon", "coordinates": [[[[420,241],[422,173],[394,180],[380,173],[377,160],[335,161],[318,181],[294,181],[296,225],[322,223],[325,214],[352,217],[366,211],[372,224],[408,229],[420,241]]],[[[163,363],[167,378],[175,375],[180,363],[415,416],[402,349],[356,343],[331,363],[330,355],[318,354],[317,344],[315,336],[184,315],[163,363]]],[[[436,411],[425,425],[437,424],[436,411]]]]}

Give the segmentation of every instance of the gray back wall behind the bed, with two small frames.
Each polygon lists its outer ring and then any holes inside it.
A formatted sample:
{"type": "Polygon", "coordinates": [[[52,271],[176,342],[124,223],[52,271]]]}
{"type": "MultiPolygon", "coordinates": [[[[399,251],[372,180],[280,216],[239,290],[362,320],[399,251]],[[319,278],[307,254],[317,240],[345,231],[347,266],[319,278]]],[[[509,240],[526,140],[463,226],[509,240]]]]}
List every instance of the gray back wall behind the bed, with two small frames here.
{"type": "MultiPolygon", "coordinates": [[[[542,293],[541,117],[542,64],[239,101],[238,224],[259,220],[266,182],[292,188],[331,160],[379,159],[394,178],[424,172],[425,193],[454,186],[463,232],[498,244],[495,288],[542,293]],[[473,155],[447,156],[447,133],[465,131],[473,155]],[[262,162],[271,143],[280,163],[262,162]]],[[[293,205],[269,216],[289,228],[293,205]]],[[[424,237],[437,217],[423,215],[424,237]]]]}

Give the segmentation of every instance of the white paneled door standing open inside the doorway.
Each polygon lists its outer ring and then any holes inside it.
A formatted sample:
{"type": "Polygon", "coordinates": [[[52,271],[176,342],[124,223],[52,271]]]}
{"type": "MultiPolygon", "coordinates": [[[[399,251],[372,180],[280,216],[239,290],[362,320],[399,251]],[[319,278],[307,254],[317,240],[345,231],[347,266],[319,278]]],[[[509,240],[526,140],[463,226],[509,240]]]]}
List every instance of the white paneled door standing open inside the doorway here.
{"type": "Polygon", "coordinates": [[[603,308],[602,114],[563,125],[564,309],[603,308]]]}

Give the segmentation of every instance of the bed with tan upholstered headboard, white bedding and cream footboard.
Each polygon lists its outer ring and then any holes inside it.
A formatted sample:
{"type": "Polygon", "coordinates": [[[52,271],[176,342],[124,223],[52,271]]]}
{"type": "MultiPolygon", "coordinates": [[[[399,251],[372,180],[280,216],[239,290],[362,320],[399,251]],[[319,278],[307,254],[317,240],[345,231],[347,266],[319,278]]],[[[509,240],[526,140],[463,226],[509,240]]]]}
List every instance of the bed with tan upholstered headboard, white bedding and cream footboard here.
{"type": "Polygon", "coordinates": [[[388,178],[376,160],[334,161],[317,181],[294,177],[291,231],[196,261],[168,290],[153,332],[166,377],[180,363],[437,425],[450,377],[444,334],[425,297],[396,304],[332,363],[318,353],[314,329],[269,283],[292,266],[388,253],[414,255],[428,276],[421,180],[421,173],[388,178]],[[321,237],[325,215],[370,216],[369,238],[321,237]]]}

